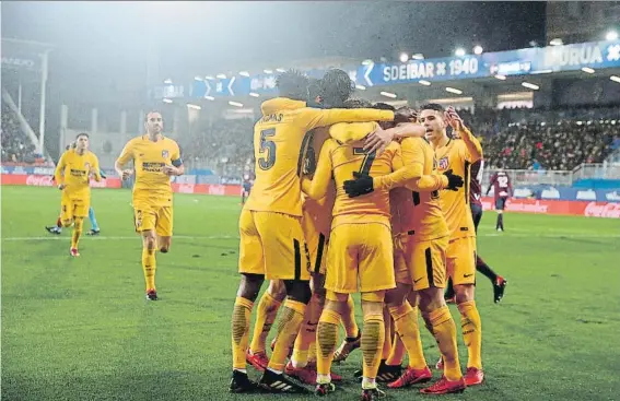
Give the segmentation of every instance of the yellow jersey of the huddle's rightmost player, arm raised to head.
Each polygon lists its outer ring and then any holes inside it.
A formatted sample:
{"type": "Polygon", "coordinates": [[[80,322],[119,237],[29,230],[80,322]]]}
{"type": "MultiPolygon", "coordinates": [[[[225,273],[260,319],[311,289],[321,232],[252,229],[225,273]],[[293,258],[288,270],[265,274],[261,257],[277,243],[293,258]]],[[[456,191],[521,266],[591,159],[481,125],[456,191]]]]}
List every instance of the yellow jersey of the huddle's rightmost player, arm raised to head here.
{"type": "MultiPolygon", "coordinates": [[[[470,141],[481,155],[480,142],[470,132],[466,134],[469,134],[470,141]]],[[[451,239],[475,237],[476,228],[469,210],[469,175],[471,164],[479,157],[471,155],[461,139],[449,139],[445,145],[435,148],[435,157],[441,173],[452,169],[453,174],[461,176],[465,182],[457,191],[442,191],[440,196],[451,239]]]]}

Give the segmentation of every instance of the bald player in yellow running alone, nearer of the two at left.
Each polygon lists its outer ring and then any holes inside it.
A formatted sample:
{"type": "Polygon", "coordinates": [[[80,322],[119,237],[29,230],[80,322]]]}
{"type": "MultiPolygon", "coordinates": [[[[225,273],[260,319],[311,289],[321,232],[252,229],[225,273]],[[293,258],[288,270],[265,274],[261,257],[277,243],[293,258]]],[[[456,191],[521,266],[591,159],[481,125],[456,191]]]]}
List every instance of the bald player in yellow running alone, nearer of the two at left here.
{"type": "Polygon", "coordinates": [[[147,133],[130,140],[114,168],[122,178],[132,174],[122,169],[133,161],[136,184],[133,185],[132,204],[136,232],[142,236],[142,270],[147,284],[147,299],[157,300],[155,290],[155,251],[165,253],[169,250],[173,234],[173,193],[171,176],[180,176],[185,167],[180,158],[178,144],[163,134],[164,123],[159,111],[147,115],[147,133]]]}

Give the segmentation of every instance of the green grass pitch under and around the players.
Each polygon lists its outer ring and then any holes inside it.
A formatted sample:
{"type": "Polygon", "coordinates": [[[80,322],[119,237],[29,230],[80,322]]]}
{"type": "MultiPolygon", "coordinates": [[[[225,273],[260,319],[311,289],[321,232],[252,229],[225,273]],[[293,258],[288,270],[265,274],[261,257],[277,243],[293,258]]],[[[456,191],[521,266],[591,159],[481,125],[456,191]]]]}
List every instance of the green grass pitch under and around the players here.
{"type": "MultiPolygon", "coordinates": [[[[157,255],[161,300],[149,303],[130,197],[93,190],[102,235],[84,236],[81,258],[71,259],[70,229],[60,237],[44,229],[56,221],[60,192],[2,187],[2,400],[272,397],[227,392],[239,200],[175,196],[172,251],[157,255]]],[[[620,400],[620,221],[507,214],[498,235],[494,220],[486,213],[478,247],[510,285],[494,305],[490,283],[478,278],[487,381],[445,399],[620,400]]],[[[434,364],[436,345],[422,335],[434,364]]],[[[465,365],[460,333],[459,350],[465,365]]],[[[335,366],[347,381],[334,399],[359,398],[360,361],[355,352],[335,366]]]]}

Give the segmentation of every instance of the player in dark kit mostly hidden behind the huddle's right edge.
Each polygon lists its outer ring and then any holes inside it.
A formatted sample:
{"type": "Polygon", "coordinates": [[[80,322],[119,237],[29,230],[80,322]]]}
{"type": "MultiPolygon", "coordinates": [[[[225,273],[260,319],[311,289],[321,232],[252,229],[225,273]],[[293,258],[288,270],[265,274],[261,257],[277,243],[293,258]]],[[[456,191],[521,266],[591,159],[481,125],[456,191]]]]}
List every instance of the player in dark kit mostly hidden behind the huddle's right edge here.
{"type": "MultiPolygon", "coordinates": [[[[476,233],[478,233],[478,224],[482,219],[482,202],[480,200],[482,193],[482,168],[484,167],[484,161],[480,160],[471,165],[471,175],[469,180],[469,205],[471,208],[471,216],[473,217],[473,226],[476,227],[476,233]]],[[[480,258],[476,255],[476,270],[484,274],[487,279],[491,280],[493,284],[493,300],[499,303],[504,297],[504,290],[508,284],[508,281],[503,276],[499,275],[480,258]]],[[[446,300],[453,300],[454,290],[452,286],[452,280],[448,280],[446,292],[446,300]]]]}

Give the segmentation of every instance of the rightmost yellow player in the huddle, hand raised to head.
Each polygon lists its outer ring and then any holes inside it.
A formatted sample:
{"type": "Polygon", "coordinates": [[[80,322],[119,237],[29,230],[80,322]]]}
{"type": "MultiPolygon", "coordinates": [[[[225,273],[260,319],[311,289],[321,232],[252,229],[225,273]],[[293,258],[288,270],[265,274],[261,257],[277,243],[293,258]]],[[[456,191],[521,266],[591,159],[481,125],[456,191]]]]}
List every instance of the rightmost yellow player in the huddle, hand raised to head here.
{"type": "Polygon", "coordinates": [[[435,150],[438,170],[453,170],[465,180],[465,186],[458,191],[443,191],[441,204],[449,229],[447,272],[454,283],[456,304],[461,316],[463,338],[468,351],[465,381],[467,386],[476,386],[482,382],[484,374],[480,352],[482,326],[475,300],[476,227],[469,208],[469,175],[471,164],[482,158],[482,148],[452,107],[444,110],[437,104],[424,105],[420,113],[420,122],[425,128],[426,139],[435,150]],[[460,139],[451,139],[447,135],[448,125],[460,139]]]}

